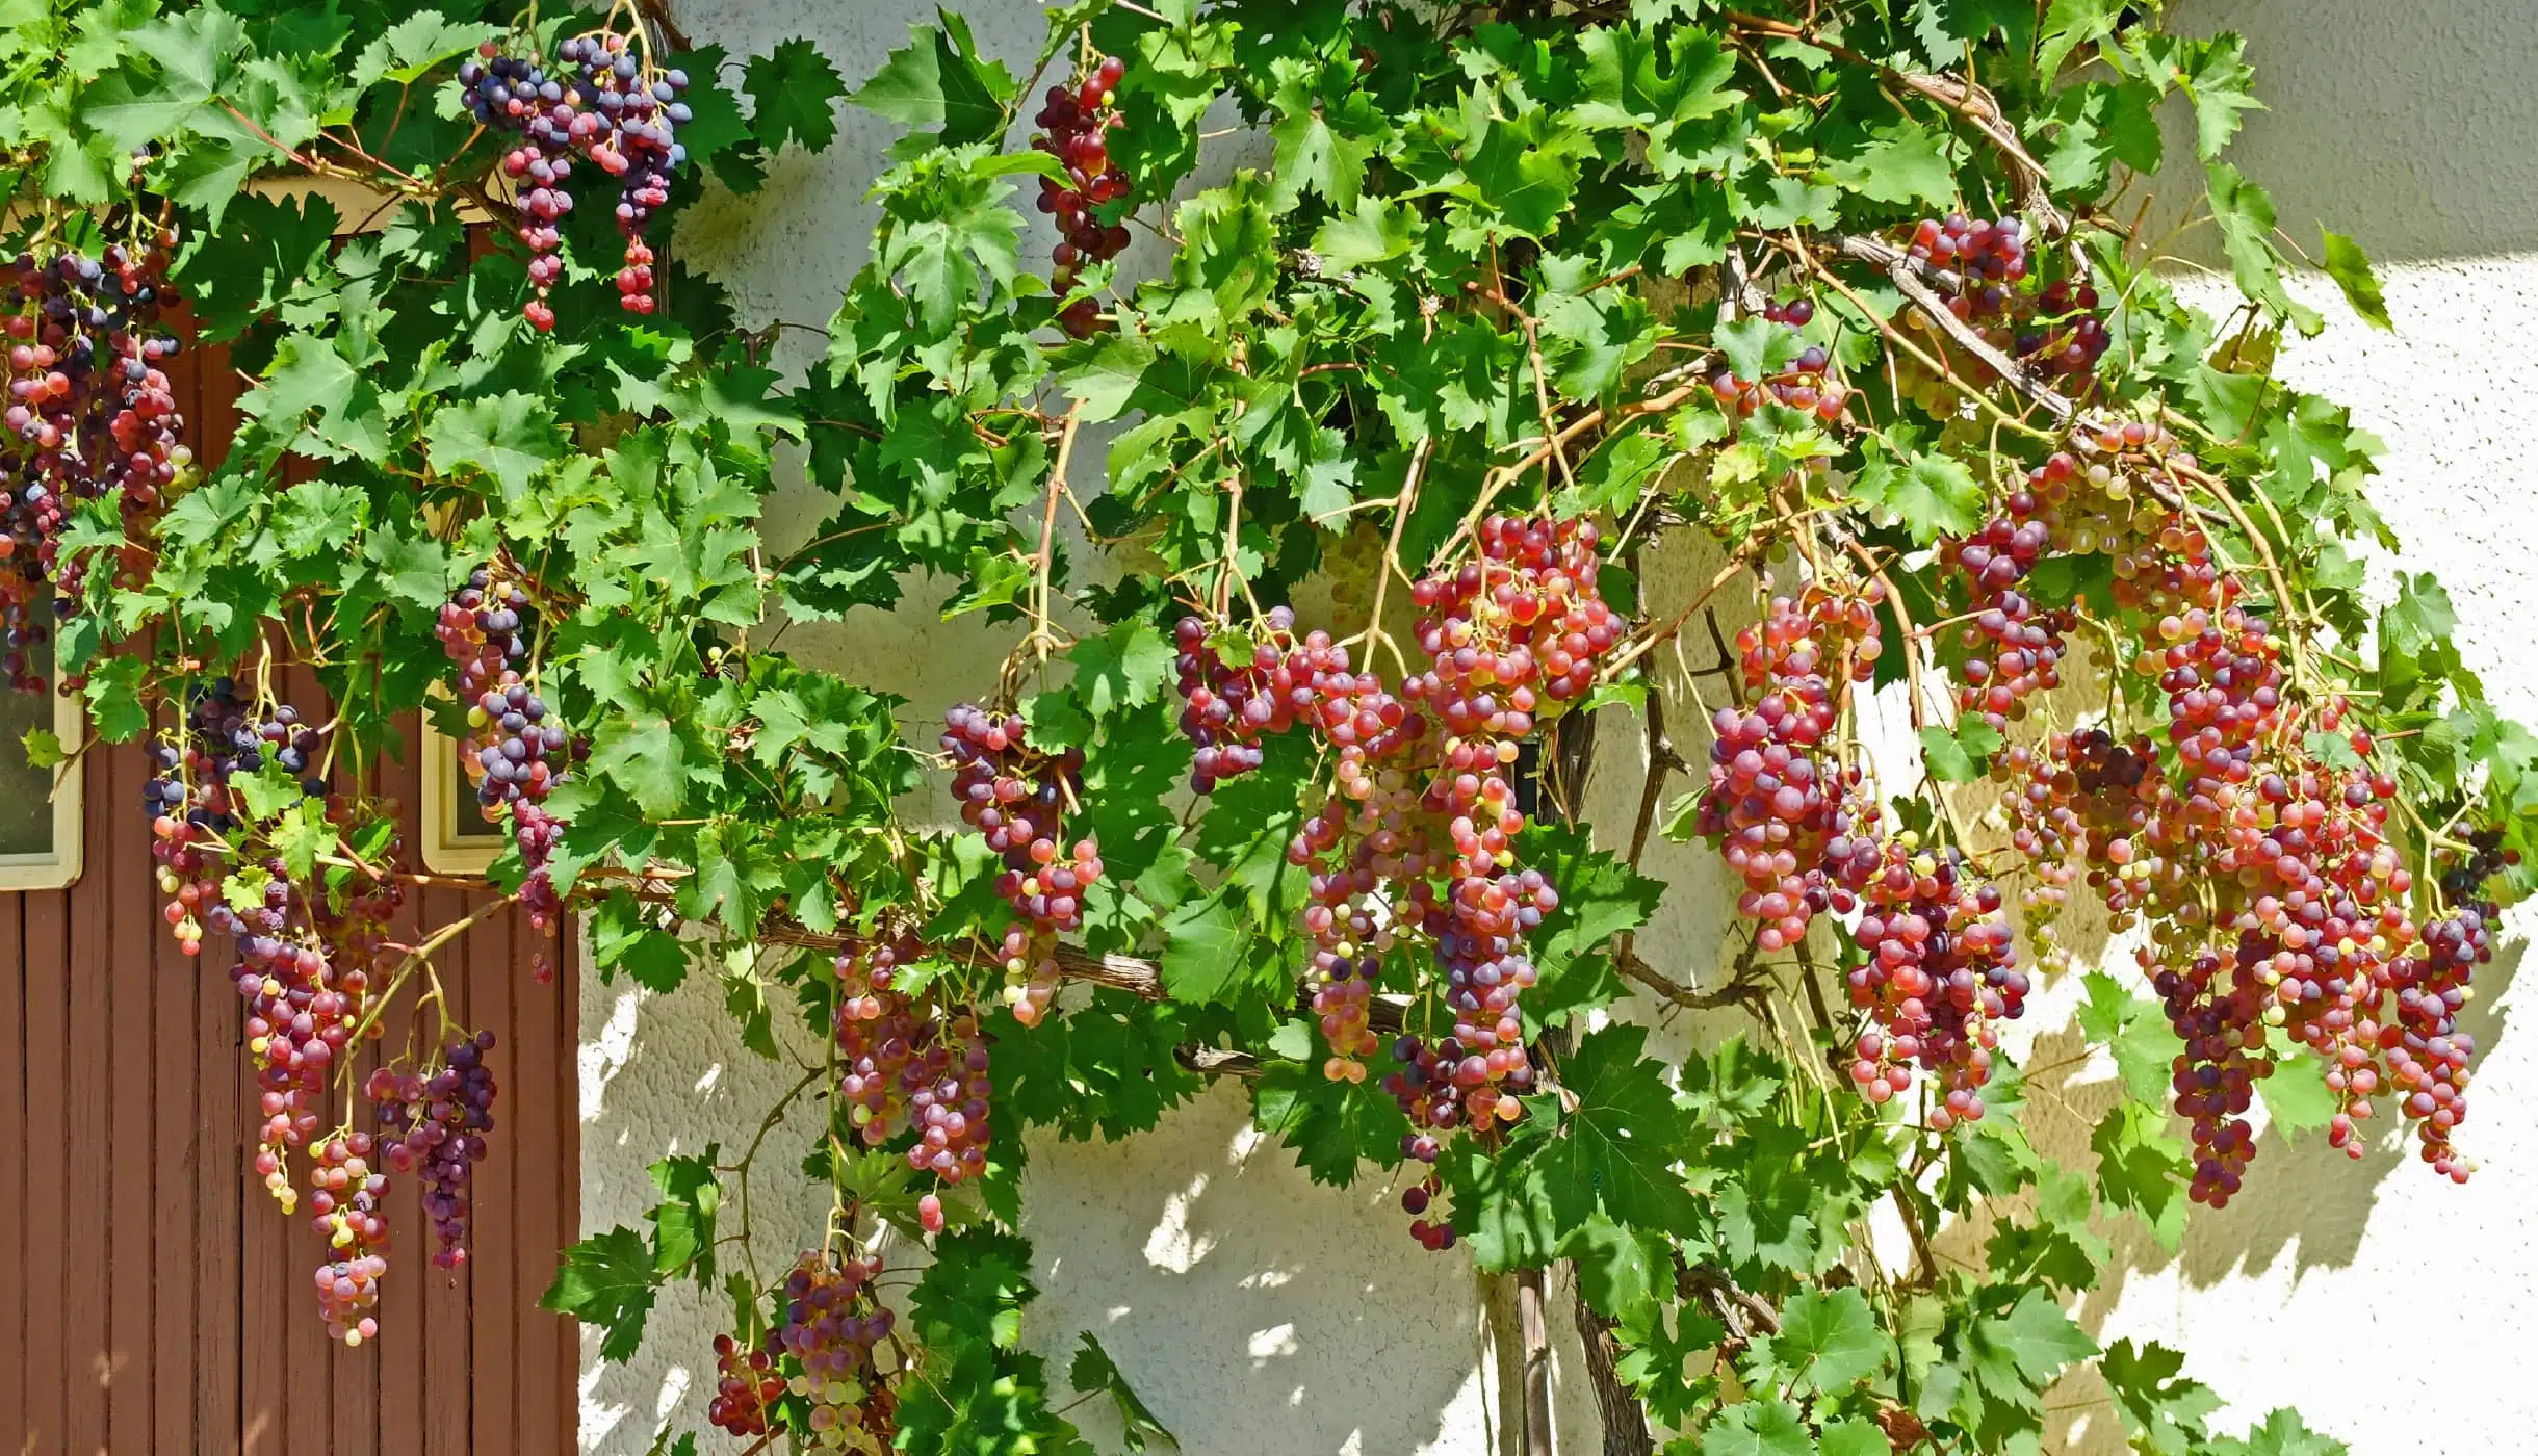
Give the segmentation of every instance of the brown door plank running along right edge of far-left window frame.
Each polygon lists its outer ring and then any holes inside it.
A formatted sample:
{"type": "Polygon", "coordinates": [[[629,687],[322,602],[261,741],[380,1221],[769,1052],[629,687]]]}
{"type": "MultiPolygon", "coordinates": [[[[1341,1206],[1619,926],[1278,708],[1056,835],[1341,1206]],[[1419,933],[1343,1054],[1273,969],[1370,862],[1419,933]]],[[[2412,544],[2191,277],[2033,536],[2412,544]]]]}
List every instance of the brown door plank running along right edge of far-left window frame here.
{"type": "MultiPolygon", "coordinates": [[[[112,758],[112,753],[109,753],[112,758]]],[[[104,774],[99,774],[104,779],[104,774]]],[[[86,852],[104,855],[104,794],[91,784],[86,791],[86,852]]],[[[109,999],[114,974],[114,873],[99,865],[94,875],[81,875],[69,890],[71,900],[71,1020],[63,1050],[69,1053],[69,1177],[71,1202],[69,1240],[61,1251],[63,1291],[63,1352],[71,1362],[66,1441],[69,1451],[89,1453],[107,1448],[107,1393],[114,1380],[114,1352],[107,1347],[109,1301],[109,1238],[114,1230],[112,1164],[112,1073],[117,1068],[117,1004],[109,999]]],[[[147,1147],[129,1149],[132,1157],[150,1157],[147,1147]]]]}

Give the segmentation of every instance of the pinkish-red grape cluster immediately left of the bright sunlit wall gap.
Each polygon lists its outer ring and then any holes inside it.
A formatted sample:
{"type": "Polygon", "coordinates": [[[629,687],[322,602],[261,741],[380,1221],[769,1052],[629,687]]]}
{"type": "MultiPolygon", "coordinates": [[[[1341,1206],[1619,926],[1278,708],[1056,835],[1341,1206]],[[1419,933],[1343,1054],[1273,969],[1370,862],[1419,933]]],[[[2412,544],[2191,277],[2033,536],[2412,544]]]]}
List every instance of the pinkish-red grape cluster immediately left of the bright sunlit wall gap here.
{"type": "Polygon", "coordinates": [[[1848,687],[1876,675],[1878,601],[1876,583],[1810,586],[1772,599],[1736,634],[1746,705],[1711,718],[1695,827],[1744,883],[1736,913],[1759,923],[1764,951],[1794,946],[1825,911],[1848,911],[1853,860],[1865,873],[1878,855],[1876,802],[1827,746],[1848,687]]]}

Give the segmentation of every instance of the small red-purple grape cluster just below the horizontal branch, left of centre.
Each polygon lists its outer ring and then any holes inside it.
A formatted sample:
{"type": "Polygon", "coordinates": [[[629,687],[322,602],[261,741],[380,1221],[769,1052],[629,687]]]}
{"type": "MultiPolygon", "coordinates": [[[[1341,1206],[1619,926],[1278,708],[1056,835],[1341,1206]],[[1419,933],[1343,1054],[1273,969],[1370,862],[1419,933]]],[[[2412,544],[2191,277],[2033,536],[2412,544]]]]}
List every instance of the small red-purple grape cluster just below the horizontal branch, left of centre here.
{"type": "MultiPolygon", "coordinates": [[[[878,1147],[914,1129],[909,1167],[944,1182],[987,1172],[987,1035],[977,1017],[944,1017],[893,987],[916,959],[914,941],[865,944],[838,954],[838,1050],[845,1073],[838,1101],[858,1136],[878,1147]]],[[[926,1230],[939,1230],[939,1202],[926,1230]]]]}

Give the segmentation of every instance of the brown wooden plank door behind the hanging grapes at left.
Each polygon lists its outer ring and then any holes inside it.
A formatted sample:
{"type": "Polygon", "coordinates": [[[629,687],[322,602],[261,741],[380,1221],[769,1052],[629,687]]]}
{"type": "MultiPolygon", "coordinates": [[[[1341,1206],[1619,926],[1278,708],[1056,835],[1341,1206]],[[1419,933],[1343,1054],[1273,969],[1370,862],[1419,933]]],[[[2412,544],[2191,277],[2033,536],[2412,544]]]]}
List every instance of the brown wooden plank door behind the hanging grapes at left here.
{"type": "MultiPolygon", "coordinates": [[[[188,436],[216,457],[236,380],[223,350],[180,363],[188,436]]],[[[320,1238],[249,1169],[228,949],[208,936],[185,959],[157,913],[145,774],[137,746],[91,753],[84,875],[0,893],[0,1453],[571,1451],[576,1334],[536,1306],[581,1202],[571,941],[503,916],[439,956],[457,1017],[500,1037],[475,1248],[431,1268],[414,1180],[391,1180],[381,1337],[335,1347],[310,1289],[320,1238]]],[[[378,789],[416,845],[414,769],[378,789]]],[[[409,890],[406,931],[467,908],[464,890],[409,890]]],[[[381,1045],[404,1045],[401,1020],[381,1045]]]]}

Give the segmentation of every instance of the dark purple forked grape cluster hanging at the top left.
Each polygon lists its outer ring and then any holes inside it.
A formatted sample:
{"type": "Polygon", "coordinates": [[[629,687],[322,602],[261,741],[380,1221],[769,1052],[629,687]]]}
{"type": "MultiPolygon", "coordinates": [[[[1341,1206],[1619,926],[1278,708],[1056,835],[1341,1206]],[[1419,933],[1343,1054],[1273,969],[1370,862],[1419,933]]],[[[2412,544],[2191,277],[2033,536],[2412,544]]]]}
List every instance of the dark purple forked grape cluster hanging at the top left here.
{"type": "Polygon", "coordinates": [[[647,315],[652,249],[645,226],[670,200],[670,172],[688,160],[678,127],[693,119],[680,94],[685,71],[657,71],[627,48],[627,36],[602,30],[556,46],[556,71],[536,58],[508,56],[495,41],[459,63],[462,104],[485,127],[518,132],[503,155],[503,175],[515,183],[518,238],[528,244],[528,282],[536,297],[523,315],[533,327],[556,327],[546,302],[563,276],[561,221],[574,211],[569,180],[576,157],[617,180],[617,231],[627,241],[617,271],[617,304],[647,315]]]}

